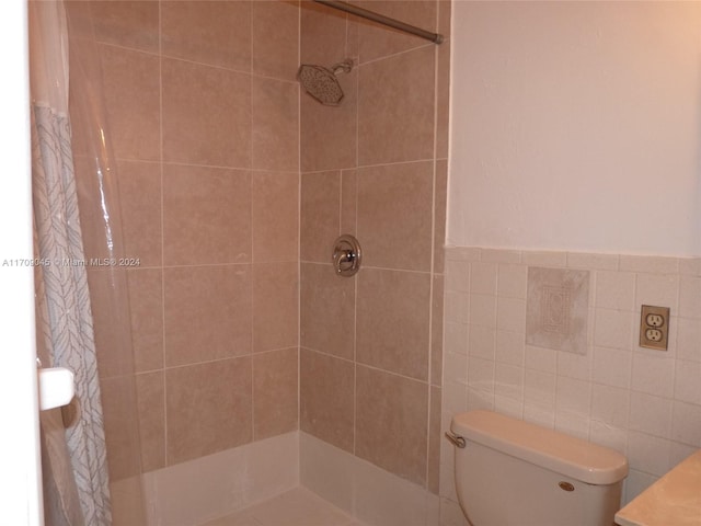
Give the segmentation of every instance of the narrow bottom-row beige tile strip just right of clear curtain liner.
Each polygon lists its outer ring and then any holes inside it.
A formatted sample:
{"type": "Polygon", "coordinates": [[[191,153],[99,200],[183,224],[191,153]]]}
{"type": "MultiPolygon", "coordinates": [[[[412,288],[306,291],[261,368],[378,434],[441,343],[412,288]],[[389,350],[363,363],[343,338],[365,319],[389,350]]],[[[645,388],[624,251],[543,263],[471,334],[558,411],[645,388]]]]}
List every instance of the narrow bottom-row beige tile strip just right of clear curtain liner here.
{"type": "Polygon", "coordinates": [[[162,370],[136,376],[143,472],[165,466],[165,377],[162,370]]]}

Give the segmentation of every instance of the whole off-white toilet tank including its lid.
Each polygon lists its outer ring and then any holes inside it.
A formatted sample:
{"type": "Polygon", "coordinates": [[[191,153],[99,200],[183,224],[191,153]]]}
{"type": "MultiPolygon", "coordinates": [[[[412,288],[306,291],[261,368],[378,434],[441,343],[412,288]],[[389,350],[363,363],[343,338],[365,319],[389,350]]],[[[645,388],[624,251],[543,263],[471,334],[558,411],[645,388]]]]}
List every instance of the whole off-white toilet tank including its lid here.
{"type": "Polygon", "coordinates": [[[456,489],[472,526],[611,526],[628,460],[491,411],[457,414],[456,489]]]}

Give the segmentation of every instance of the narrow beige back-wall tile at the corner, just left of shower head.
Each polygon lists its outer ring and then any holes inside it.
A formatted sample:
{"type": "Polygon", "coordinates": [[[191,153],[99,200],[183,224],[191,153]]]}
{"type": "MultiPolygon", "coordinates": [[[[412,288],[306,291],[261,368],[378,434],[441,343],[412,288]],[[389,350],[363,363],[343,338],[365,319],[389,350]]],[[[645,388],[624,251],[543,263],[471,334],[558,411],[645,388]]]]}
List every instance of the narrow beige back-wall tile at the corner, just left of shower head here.
{"type": "Polygon", "coordinates": [[[253,77],[252,90],[252,167],[299,170],[298,84],[253,77]]]}

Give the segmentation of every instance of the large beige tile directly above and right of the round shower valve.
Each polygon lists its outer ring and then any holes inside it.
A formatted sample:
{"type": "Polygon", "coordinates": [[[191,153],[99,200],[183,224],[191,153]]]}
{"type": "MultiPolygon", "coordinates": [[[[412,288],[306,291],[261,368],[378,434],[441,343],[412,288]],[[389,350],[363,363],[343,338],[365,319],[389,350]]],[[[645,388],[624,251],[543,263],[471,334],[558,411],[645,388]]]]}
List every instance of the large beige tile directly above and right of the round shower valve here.
{"type": "Polygon", "coordinates": [[[433,162],[358,170],[358,240],[368,266],[430,271],[433,162]]]}

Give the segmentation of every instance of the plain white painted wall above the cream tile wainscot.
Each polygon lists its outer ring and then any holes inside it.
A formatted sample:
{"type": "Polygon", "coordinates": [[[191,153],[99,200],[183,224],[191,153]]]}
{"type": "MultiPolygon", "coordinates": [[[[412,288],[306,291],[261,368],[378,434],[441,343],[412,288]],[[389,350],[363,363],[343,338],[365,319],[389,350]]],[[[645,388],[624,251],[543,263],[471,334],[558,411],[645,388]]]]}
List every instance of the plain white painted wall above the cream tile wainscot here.
{"type": "Polygon", "coordinates": [[[452,20],[447,244],[701,255],[701,2],[452,20]]]}

